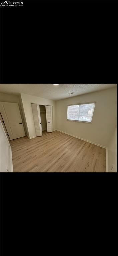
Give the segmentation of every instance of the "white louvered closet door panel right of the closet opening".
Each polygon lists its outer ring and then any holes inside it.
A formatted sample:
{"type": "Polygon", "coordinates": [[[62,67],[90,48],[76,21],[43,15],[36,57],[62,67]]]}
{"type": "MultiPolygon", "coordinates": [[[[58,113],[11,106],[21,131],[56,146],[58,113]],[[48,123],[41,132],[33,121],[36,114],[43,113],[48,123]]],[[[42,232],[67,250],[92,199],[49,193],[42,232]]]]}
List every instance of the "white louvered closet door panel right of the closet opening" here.
{"type": "Polygon", "coordinates": [[[53,132],[52,106],[45,106],[45,109],[47,120],[47,132],[53,132]]]}

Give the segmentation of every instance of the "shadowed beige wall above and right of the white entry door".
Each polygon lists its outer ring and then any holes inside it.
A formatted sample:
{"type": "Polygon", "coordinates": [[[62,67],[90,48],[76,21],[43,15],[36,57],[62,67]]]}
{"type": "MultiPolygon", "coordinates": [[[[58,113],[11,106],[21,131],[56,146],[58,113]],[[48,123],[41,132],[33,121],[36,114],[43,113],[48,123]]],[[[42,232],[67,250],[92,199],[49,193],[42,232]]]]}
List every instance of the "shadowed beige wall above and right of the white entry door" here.
{"type": "Polygon", "coordinates": [[[26,127],[25,127],[25,122],[24,122],[23,113],[22,113],[22,109],[21,109],[19,95],[0,93],[0,101],[2,101],[2,102],[11,102],[11,103],[18,103],[19,109],[20,109],[21,118],[22,118],[22,121],[23,121],[23,126],[24,126],[24,130],[25,130],[25,134],[26,134],[26,127]]]}

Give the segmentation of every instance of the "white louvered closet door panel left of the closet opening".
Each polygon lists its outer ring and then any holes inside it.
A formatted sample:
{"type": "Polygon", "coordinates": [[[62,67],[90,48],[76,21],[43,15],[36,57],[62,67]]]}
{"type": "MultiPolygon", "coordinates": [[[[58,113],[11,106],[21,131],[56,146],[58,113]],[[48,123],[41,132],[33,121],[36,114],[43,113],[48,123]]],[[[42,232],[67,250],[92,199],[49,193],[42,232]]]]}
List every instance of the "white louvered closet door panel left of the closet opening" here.
{"type": "Polygon", "coordinates": [[[42,136],[41,116],[39,104],[31,104],[36,136],[42,136]]]}

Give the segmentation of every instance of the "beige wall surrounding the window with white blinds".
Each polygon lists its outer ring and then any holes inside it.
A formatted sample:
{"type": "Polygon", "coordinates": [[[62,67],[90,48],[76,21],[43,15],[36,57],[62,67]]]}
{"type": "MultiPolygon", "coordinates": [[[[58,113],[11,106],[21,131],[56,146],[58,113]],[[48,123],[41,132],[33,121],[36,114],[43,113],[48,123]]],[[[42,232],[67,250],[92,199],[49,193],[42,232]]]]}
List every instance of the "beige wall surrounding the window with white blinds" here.
{"type": "Polygon", "coordinates": [[[56,129],[107,147],[116,125],[117,88],[56,101],[56,129]],[[67,121],[67,105],[96,101],[92,123],[67,121]]]}

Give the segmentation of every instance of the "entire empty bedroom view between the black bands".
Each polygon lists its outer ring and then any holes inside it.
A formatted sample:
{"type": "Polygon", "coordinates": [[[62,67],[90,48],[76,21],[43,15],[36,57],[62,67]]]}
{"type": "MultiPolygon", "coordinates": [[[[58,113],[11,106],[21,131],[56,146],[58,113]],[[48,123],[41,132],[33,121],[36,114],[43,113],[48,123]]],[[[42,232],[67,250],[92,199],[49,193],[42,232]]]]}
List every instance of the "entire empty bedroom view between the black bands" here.
{"type": "Polygon", "coordinates": [[[117,84],[0,84],[0,172],[117,172],[117,84]]]}

